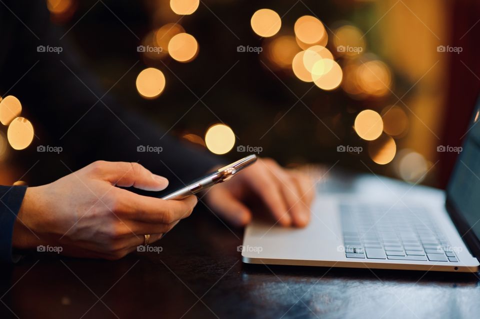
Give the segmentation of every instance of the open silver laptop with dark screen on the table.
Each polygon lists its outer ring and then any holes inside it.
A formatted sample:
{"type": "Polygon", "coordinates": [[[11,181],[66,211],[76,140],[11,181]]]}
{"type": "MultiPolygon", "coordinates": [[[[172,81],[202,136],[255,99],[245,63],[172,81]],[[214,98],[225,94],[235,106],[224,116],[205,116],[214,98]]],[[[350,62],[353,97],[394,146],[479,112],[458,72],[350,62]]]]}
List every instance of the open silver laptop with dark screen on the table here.
{"type": "Polygon", "coordinates": [[[317,184],[307,227],[284,228],[254,220],[245,229],[242,261],[477,272],[479,112],[477,104],[446,191],[374,174],[331,173],[317,184]]]}

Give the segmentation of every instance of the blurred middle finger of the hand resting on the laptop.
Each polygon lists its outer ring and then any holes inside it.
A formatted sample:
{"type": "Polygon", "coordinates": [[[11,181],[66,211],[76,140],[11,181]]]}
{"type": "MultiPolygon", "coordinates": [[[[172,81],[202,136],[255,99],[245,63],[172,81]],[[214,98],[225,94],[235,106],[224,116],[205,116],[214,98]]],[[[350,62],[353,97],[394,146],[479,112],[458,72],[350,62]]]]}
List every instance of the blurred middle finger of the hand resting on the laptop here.
{"type": "Polygon", "coordinates": [[[288,174],[283,168],[276,163],[268,168],[272,178],[277,180],[280,185],[280,191],[283,194],[287,211],[291,216],[293,225],[304,227],[308,224],[309,214],[305,211],[300,200],[299,189],[293,181],[293,176],[288,174]]]}

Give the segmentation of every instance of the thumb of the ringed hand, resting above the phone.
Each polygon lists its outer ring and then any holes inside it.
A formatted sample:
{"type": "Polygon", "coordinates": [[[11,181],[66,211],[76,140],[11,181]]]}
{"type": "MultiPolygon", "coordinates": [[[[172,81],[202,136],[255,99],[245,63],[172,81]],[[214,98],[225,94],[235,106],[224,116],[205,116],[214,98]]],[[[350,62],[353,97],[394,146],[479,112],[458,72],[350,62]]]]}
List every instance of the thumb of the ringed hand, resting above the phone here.
{"type": "Polygon", "coordinates": [[[134,162],[97,161],[88,165],[94,174],[120,187],[135,187],[146,191],[161,191],[168,186],[168,180],[152,174],[134,162]],[[91,166],[91,167],[90,167],[91,166]]]}

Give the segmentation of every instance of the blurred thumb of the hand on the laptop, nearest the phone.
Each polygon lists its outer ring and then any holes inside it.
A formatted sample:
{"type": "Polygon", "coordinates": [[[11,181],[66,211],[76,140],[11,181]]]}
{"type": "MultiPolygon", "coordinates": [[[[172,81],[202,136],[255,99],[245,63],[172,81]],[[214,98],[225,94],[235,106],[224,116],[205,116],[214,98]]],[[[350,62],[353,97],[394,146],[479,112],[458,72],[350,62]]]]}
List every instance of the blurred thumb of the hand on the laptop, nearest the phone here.
{"type": "Polygon", "coordinates": [[[218,212],[228,223],[244,226],[251,220],[251,212],[232,194],[223,188],[212,188],[208,196],[208,206],[218,212]]]}

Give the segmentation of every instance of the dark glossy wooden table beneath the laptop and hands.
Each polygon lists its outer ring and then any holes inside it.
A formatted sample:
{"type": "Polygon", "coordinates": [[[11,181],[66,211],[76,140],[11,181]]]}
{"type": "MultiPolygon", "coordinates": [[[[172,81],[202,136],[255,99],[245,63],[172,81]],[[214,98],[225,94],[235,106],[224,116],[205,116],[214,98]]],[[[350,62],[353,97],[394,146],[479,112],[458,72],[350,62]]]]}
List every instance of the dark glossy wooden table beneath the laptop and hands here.
{"type": "Polygon", "coordinates": [[[0,318],[478,318],[477,274],[246,265],[197,209],[115,261],[35,254],[1,269],[0,318]]]}

